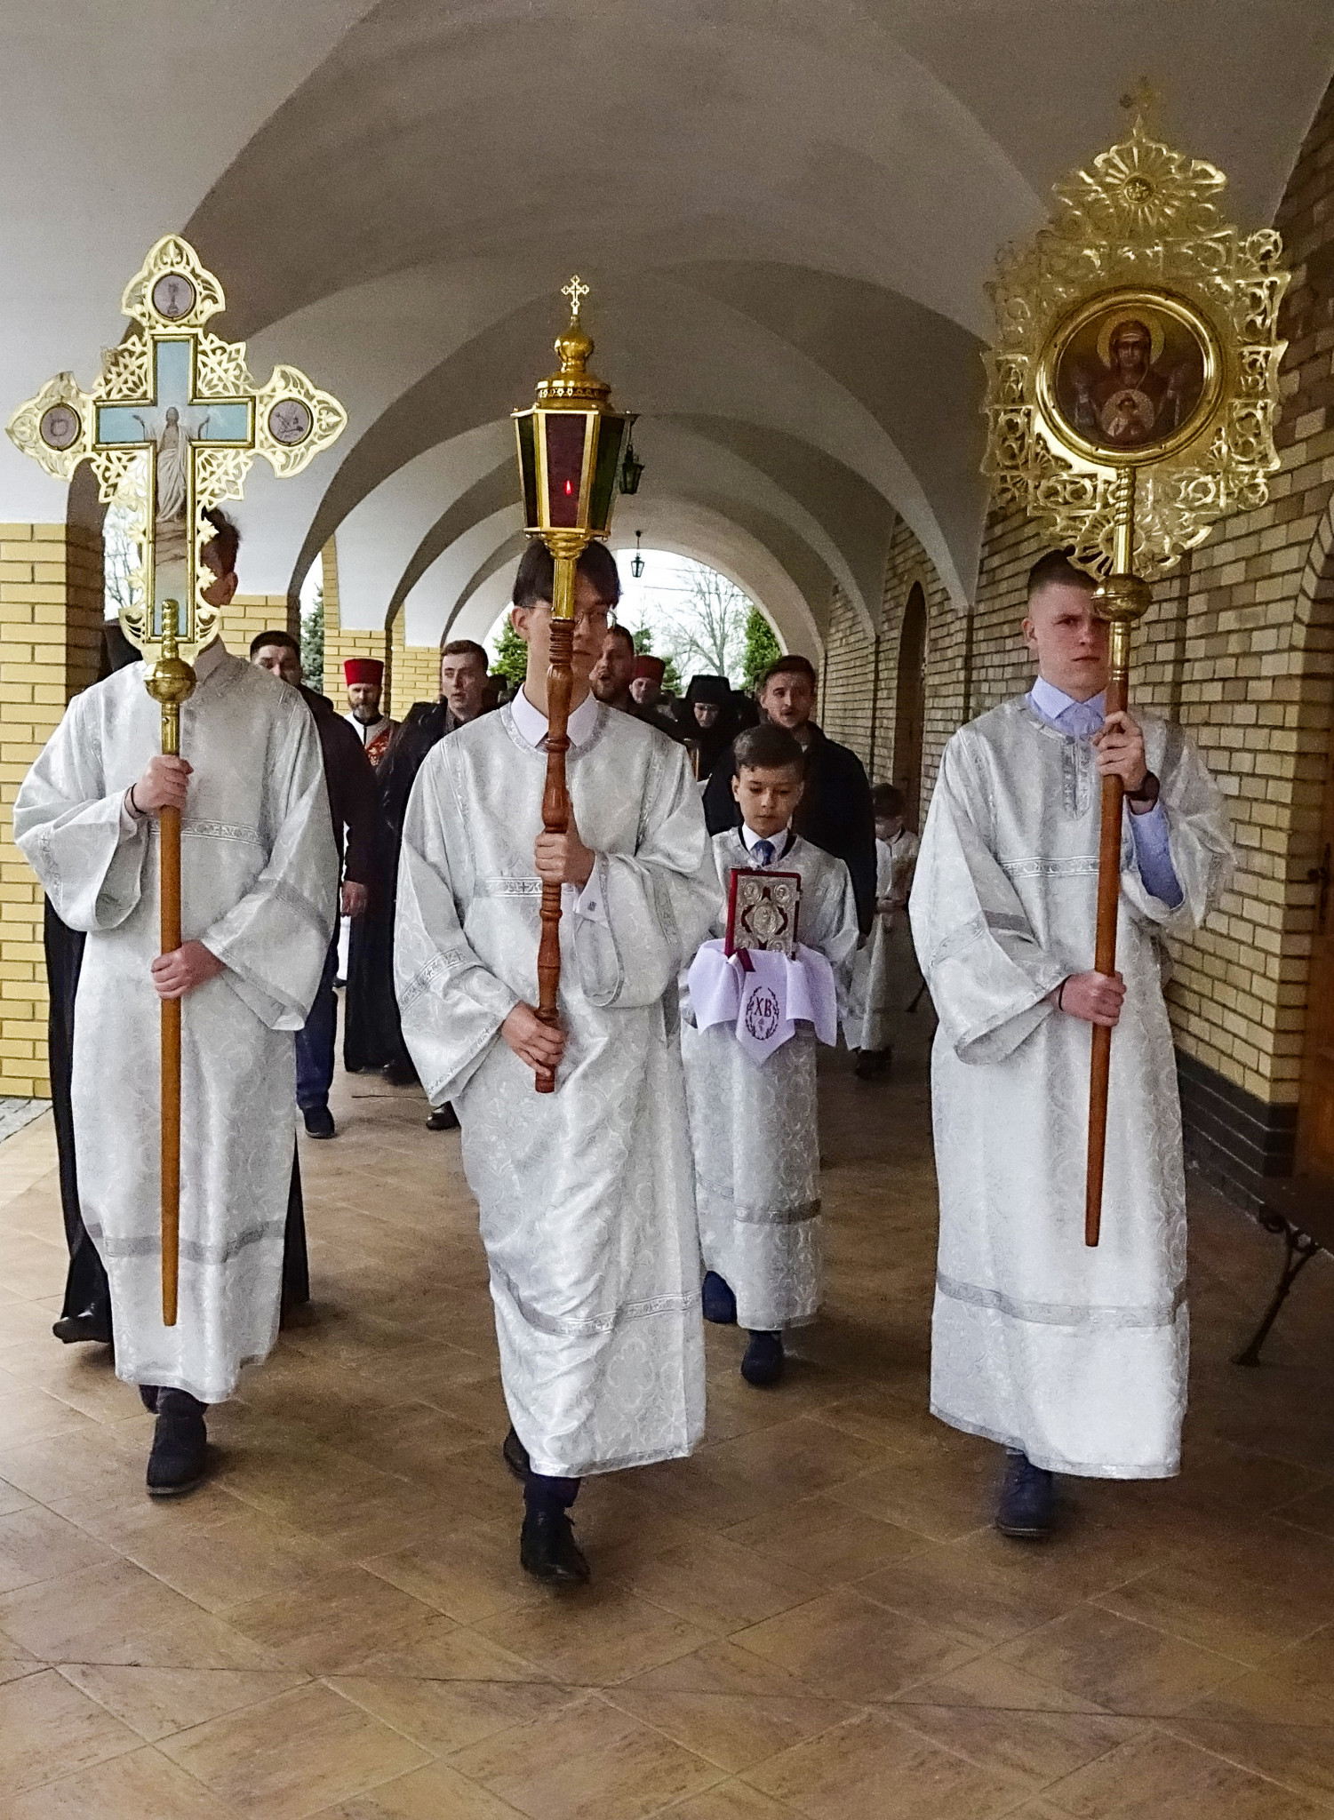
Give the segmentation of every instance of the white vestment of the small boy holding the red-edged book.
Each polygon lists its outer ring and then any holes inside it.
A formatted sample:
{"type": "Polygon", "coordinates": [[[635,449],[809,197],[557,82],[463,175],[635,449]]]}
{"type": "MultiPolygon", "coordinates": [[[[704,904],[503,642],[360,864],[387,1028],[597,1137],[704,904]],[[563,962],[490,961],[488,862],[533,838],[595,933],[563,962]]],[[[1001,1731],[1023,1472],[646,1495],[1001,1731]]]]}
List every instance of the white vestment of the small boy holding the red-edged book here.
{"type": "MultiPolygon", "coordinates": [[[[713,835],[717,903],[728,881],[752,866],[739,828],[713,835]]],[[[801,874],[797,939],[817,948],[843,986],[857,946],[857,901],[841,859],[793,839],[775,872],[801,874]]],[[[723,934],[726,917],[715,923],[723,934]]],[[[815,1032],[795,1034],[763,1063],[752,1061],[730,1025],[697,1030],[682,1021],[695,1199],[704,1267],[737,1298],[737,1321],[777,1332],[814,1321],[821,1298],[819,1128],[815,1032]]]]}

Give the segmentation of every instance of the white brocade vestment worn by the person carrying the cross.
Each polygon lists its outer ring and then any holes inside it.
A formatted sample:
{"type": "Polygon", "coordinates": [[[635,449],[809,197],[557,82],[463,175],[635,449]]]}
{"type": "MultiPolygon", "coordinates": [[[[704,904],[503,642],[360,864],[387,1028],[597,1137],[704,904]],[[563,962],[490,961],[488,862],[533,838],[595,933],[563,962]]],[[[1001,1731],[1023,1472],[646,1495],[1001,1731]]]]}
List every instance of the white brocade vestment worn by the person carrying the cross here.
{"type": "Polygon", "coordinates": [[[278,1332],[295,1145],[293,1032],[333,932],[339,857],[320,741],[297,690],[231,657],[180,710],[193,766],[182,934],[226,970],[182,1001],[180,1303],[162,1325],[158,823],[126,792],[162,710],[129,664],[76,695],[15,803],[15,841],[56,914],[87,932],[75,999],[75,1156],[107,1267],[116,1374],[220,1403],[278,1332]]]}

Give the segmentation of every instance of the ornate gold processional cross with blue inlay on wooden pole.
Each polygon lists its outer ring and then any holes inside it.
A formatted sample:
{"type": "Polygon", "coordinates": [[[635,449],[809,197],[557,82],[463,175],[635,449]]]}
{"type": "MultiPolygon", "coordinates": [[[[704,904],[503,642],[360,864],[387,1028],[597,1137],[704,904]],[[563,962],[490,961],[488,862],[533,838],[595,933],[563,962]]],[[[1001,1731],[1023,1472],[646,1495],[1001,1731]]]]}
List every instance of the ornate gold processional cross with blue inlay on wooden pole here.
{"type": "MultiPolygon", "coordinates": [[[[56,373],[9,419],[9,439],[56,480],[87,460],[98,497],[126,517],[129,593],[120,626],[151,668],[146,686],[162,708],[162,750],[180,752],[180,706],[195,690],[189,659],[218,630],[206,592],[206,513],[242,497],[249,464],[264,455],[278,479],[300,470],[342,433],[348,413],[295,366],[275,366],[257,386],[246,344],[204,326],[226,308],[222,286],[195,248],[166,235],[120,298],[133,328],[102,353],[91,391],[56,373]]],[[[160,823],[162,952],[180,946],[180,812],[160,823]]],[[[180,999],[162,1001],[162,1320],[177,1321],[180,1238],[180,999]]]]}

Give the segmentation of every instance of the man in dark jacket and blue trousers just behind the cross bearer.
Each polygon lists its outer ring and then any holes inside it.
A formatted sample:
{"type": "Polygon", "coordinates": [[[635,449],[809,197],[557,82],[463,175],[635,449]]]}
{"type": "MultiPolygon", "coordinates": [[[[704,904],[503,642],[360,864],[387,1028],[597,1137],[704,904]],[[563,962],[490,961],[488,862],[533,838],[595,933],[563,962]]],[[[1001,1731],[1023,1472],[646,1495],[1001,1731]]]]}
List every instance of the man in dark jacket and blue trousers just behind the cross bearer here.
{"type": "MultiPolygon", "coordinates": [[[[333,839],[342,877],[340,910],[359,917],[366,910],[375,866],[375,772],[357,732],[335,713],[328,695],[317,695],[300,681],[300,644],[289,632],[260,632],[251,639],[249,661],[260,670],[300,690],[315,717],[324,753],[324,784],[329,792],[333,839]],[[346,830],[346,852],[344,852],[346,830]]],[[[333,976],[339,965],[339,930],[324,959],[320,988],[315,994],[306,1028],[297,1036],[297,1105],[311,1138],[333,1138],[337,1127],[329,1112],[333,1085],[333,1045],[339,1032],[339,1001],[333,976]]]]}

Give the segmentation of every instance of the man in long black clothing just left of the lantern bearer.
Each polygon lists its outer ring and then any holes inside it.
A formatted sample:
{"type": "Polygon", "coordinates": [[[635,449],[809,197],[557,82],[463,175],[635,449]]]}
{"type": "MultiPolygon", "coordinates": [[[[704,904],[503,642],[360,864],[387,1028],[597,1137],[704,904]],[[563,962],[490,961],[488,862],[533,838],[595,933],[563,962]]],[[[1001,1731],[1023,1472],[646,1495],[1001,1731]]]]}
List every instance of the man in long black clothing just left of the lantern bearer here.
{"type": "MultiPolygon", "coordinates": [[[[450,639],[442,644],[440,699],[411,704],[375,774],[379,819],[371,901],[360,923],[353,923],[348,954],[348,1034],[342,1039],[342,1059],[351,1074],[380,1068],[389,1081],[417,1079],[402,1041],[393,992],[393,915],[402,819],[426,753],[446,733],[486,713],[486,652],[480,644],[471,639],[450,639]]],[[[450,1130],[457,1121],[448,1107],[435,1107],[426,1123],[431,1130],[450,1130]]]]}

